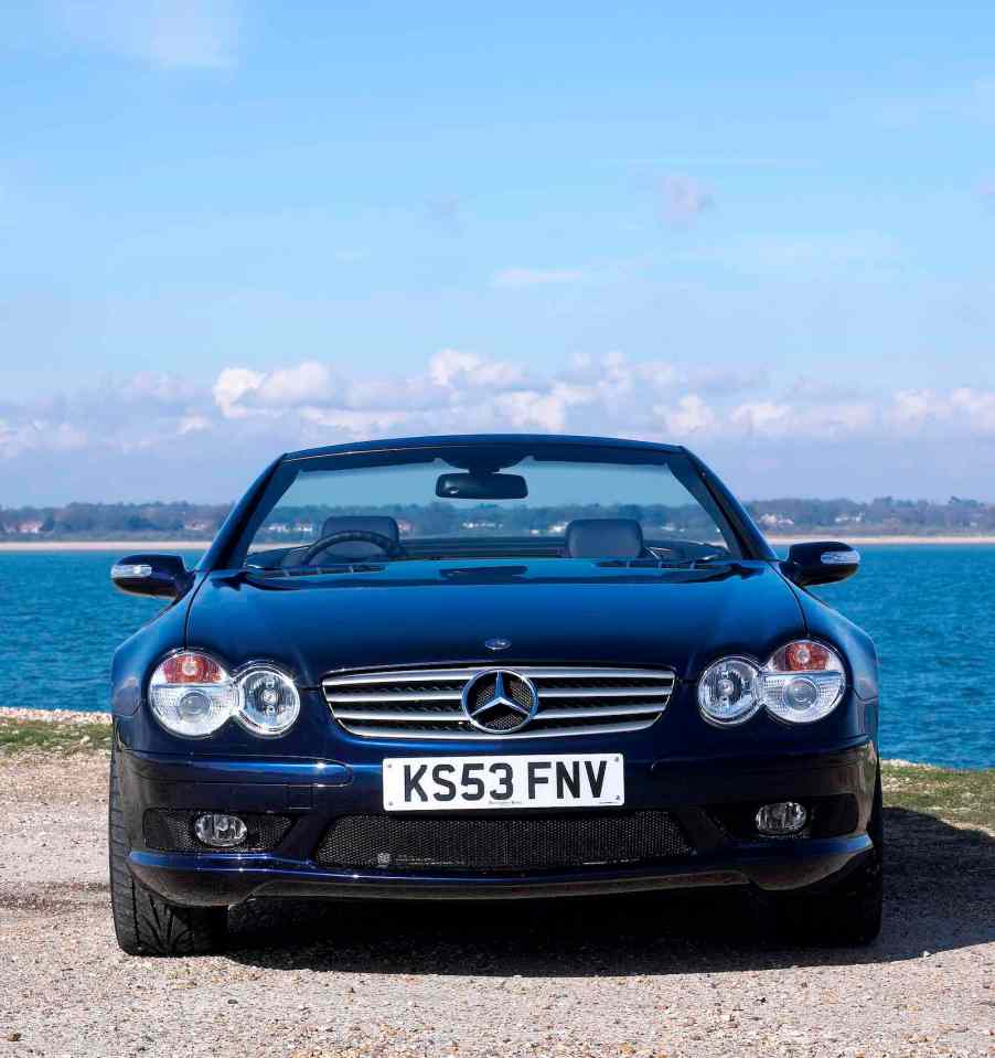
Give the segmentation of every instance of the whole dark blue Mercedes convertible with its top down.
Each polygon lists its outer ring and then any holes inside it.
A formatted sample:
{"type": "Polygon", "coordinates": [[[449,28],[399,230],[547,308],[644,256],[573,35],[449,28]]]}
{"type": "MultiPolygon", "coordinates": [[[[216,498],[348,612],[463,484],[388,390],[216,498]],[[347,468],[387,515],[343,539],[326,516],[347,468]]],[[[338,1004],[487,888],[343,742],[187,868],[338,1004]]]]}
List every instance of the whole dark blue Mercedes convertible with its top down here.
{"type": "Polygon", "coordinates": [[[110,874],[132,953],[276,896],[750,886],[880,928],[877,662],[684,448],[427,437],[277,459],[114,659],[110,874]]]}

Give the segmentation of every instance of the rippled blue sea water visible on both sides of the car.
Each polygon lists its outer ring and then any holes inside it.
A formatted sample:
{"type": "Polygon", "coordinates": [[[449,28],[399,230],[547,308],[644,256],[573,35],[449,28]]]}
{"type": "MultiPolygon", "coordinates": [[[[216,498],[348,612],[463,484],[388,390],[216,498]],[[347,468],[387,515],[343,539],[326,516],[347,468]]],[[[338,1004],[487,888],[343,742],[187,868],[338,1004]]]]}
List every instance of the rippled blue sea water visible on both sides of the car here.
{"type": "MultiPolygon", "coordinates": [[[[877,643],[884,755],[995,766],[995,546],[860,551],[860,573],[821,595],[877,643]]],[[[114,590],[114,557],[0,554],[3,705],[107,708],[115,646],[159,607],[114,590]]]]}

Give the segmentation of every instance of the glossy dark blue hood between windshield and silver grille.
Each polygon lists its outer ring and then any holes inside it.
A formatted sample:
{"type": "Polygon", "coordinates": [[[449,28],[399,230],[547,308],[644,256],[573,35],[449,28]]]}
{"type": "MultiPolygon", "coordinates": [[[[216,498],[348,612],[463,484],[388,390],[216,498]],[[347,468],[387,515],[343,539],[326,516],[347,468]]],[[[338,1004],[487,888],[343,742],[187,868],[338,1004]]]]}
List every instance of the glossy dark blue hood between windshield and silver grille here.
{"type": "Polygon", "coordinates": [[[766,563],[632,570],[560,559],[214,573],[194,594],[186,640],[232,667],[270,659],[314,686],[340,669],[450,662],[665,666],[687,678],[724,653],[763,659],[804,631],[794,592],[766,563]],[[511,645],[491,652],[495,638],[511,645]]]}

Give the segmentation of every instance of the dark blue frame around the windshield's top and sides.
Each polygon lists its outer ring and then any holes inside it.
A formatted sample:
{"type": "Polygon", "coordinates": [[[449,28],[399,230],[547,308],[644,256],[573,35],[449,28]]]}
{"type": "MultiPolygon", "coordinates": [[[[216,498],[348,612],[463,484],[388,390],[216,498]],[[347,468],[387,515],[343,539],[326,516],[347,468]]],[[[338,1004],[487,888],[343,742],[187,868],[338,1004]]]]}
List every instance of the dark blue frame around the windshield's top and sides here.
{"type": "Polygon", "coordinates": [[[537,462],[668,466],[672,472],[674,467],[680,467],[681,472],[675,472],[675,477],[716,521],[720,530],[728,528],[743,559],[773,560],[777,557],[728,489],[697,457],[684,448],[607,438],[481,435],[364,442],[281,456],[267,468],[232,511],[197,568],[203,571],[243,567],[257,531],[297,478],[302,463],[318,463],[322,471],[336,471],[427,463],[441,459],[460,469],[482,462],[495,467],[514,467],[526,457],[532,457],[537,462]]]}

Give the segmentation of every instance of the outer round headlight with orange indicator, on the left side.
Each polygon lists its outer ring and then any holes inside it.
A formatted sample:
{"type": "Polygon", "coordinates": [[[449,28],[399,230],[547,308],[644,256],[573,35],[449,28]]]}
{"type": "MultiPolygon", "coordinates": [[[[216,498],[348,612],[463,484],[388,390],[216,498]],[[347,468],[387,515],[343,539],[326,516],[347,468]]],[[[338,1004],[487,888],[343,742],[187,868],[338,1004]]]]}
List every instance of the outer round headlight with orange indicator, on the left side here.
{"type": "Polygon", "coordinates": [[[238,706],[235,683],[206,654],[183,651],[167,658],[149,681],[152,712],[167,730],[189,738],[216,731],[238,706]]]}

